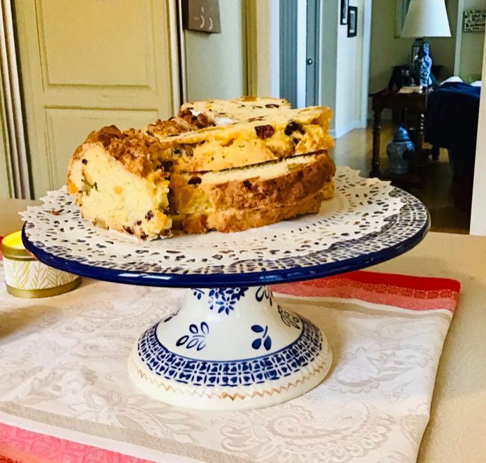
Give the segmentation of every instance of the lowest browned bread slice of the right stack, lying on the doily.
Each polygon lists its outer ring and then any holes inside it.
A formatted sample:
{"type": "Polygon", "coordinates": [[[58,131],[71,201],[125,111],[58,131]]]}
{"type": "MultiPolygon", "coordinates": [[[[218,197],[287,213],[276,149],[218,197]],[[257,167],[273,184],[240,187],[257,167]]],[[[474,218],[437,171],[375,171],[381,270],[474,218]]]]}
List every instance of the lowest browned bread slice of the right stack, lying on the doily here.
{"type": "Polygon", "coordinates": [[[182,214],[174,216],[172,227],[184,233],[202,234],[207,231],[242,231],[264,225],[274,224],[281,220],[307,213],[318,213],[324,199],[334,196],[334,178],[327,181],[323,189],[311,194],[290,206],[266,209],[227,209],[209,213],[182,214]]]}

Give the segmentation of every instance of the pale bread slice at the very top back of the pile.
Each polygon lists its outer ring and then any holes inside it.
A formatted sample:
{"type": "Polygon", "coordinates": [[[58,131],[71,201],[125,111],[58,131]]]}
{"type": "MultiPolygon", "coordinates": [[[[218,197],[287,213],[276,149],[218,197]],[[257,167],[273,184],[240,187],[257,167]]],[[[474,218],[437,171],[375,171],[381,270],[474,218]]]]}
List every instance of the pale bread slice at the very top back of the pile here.
{"type": "Polygon", "coordinates": [[[248,120],[290,109],[286,99],[271,97],[241,97],[233,100],[189,101],[181,106],[179,114],[190,111],[193,115],[205,115],[215,125],[226,125],[231,122],[248,120]]]}

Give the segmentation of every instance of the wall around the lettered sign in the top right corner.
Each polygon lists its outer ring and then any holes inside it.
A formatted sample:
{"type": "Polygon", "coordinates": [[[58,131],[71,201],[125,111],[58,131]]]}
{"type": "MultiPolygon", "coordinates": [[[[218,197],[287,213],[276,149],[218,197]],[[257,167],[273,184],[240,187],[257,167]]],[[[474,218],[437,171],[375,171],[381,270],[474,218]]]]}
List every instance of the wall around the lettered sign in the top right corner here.
{"type": "MultiPolygon", "coordinates": [[[[464,10],[485,10],[486,0],[464,0],[464,10]]],[[[466,81],[480,80],[483,66],[484,32],[462,32],[459,75],[466,81]]]]}

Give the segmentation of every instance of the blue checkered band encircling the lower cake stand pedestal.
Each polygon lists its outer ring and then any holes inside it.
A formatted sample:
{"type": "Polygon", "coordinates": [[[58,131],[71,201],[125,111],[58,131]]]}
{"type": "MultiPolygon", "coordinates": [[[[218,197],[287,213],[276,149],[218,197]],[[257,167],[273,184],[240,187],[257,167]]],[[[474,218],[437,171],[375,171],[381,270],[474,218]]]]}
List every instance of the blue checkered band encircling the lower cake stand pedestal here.
{"type": "Polygon", "coordinates": [[[311,322],[300,320],[302,333],[287,347],[269,355],[233,362],[190,359],[171,352],[157,338],[157,323],[140,337],[138,356],[156,375],[177,383],[230,387],[265,383],[300,371],[321,352],[321,332],[311,322]]]}

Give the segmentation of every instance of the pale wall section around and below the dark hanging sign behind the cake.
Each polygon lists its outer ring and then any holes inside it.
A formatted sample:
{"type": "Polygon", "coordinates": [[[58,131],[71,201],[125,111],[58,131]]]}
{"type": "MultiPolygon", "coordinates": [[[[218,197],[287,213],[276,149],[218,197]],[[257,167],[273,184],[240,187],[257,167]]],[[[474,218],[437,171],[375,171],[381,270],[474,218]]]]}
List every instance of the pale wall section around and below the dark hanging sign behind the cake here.
{"type": "Polygon", "coordinates": [[[242,1],[219,2],[221,34],[184,31],[189,101],[246,93],[242,1]]]}

